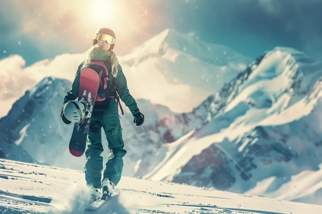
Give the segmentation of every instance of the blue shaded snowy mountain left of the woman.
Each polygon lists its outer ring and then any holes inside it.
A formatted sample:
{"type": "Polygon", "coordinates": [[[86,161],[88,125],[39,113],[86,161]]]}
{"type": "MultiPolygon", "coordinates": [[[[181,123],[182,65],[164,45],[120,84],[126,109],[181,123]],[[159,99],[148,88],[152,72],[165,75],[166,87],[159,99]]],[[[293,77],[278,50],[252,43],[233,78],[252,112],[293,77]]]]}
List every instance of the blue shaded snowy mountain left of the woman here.
{"type": "MultiPolygon", "coordinates": [[[[52,141],[62,141],[60,134],[64,133],[64,124],[60,109],[62,97],[70,84],[67,80],[47,77],[27,90],[7,116],[0,119],[0,133],[6,136],[2,139],[4,145],[22,147],[26,151],[24,156],[32,156],[38,163],[51,164],[61,154],[61,148],[56,148],[57,143],[52,141]]],[[[5,154],[16,152],[13,148],[8,149],[5,154]]],[[[23,160],[21,156],[7,158],[23,160]]]]}

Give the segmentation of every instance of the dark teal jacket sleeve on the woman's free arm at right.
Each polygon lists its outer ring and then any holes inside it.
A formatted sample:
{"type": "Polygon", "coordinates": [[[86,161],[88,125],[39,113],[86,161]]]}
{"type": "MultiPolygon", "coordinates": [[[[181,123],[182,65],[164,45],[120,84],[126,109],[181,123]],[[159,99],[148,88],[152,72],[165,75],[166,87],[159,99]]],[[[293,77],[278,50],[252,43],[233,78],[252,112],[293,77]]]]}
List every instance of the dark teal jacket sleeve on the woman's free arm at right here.
{"type": "Polygon", "coordinates": [[[129,108],[132,115],[139,112],[139,109],[137,107],[137,103],[135,102],[135,99],[132,97],[128,90],[127,81],[125,78],[125,75],[122,71],[121,65],[118,64],[118,75],[115,78],[115,88],[118,92],[118,96],[124,102],[124,104],[129,108]]]}

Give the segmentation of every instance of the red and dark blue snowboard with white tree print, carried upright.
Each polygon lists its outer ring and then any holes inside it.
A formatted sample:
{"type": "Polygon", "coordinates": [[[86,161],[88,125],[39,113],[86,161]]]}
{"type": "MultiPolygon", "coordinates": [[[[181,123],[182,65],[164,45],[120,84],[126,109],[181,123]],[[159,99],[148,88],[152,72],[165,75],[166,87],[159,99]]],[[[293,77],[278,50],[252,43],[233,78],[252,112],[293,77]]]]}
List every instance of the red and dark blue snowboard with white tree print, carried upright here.
{"type": "Polygon", "coordinates": [[[81,71],[78,101],[86,107],[86,116],[81,123],[75,123],[71,140],[69,142],[69,151],[73,156],[80,157],[86,149],[86,140],[90,117],[92,115],[94,102],[99,88],[99,75],[90,68],[84,68],[81,71]]]}

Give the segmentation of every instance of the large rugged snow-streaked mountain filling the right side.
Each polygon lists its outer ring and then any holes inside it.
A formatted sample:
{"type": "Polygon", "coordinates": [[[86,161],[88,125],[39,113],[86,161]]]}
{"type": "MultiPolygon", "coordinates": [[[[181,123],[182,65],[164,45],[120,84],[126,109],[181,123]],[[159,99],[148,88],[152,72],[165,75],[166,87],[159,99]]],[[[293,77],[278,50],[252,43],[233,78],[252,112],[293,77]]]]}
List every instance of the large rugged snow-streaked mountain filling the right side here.
{"type": "Polygon", "coordinates": [[[319,169],[322,64],[286,47],[256,61],[216,94],[208,122],[179,147],[164,145],[146,178],[244,193],[271,176],[277,190],[319,169]]]}

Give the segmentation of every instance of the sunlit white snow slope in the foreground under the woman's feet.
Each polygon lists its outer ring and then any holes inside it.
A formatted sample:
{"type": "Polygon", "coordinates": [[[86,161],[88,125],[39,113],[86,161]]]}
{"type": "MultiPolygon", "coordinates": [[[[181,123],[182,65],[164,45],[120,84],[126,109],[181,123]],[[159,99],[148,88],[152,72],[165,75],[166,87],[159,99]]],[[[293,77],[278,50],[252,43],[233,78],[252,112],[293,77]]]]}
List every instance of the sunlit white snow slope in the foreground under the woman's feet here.
{"type": "Polygon", "coordinates": [[[322,206],[267,199],[194,186],[122,177],[119,197],[84,212],[88,199],[81,171],[0,159],[3,214],[223,213],[318,214],[322,206]]]}

